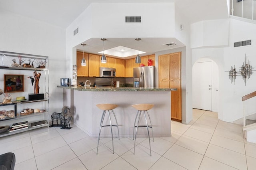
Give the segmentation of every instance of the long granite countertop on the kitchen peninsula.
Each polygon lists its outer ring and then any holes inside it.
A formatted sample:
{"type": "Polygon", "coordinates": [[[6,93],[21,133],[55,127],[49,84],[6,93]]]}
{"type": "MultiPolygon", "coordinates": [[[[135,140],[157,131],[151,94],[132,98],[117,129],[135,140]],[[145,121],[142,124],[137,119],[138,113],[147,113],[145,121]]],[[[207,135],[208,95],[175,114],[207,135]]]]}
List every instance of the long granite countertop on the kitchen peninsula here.
{"type": "Polygon", "coordinates": [[[81,87],[81,86],[74,86],[74,87],[65,87],[65,86],[57,86],[63,89],[70,89],[70,90],[78,90],[78,91],[176,91],[177,89],[174,88],[134,88],[134,87],[81,87]]]}

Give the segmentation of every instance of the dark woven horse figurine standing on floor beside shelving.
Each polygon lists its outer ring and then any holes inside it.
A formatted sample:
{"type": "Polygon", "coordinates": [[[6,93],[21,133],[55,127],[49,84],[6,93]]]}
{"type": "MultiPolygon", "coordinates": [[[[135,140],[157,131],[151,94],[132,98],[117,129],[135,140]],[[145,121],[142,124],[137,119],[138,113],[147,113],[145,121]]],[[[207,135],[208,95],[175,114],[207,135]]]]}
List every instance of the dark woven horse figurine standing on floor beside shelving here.
{"type": "MultiPolygon", "coordinates": [[[[65,121],[62,121],[62,120],[65,120],[66,118],[68,119],[70,117],[72,117],[71,116],[71,112],[70,112],[70,108],[68,106],[64,106],[62,108],[62,112],[61,113],[56,113],[56,112],[52,113],[52,116],[51,116],[52,125],[54,125],[53,121],[54,121],[54,119],[56,119],[57,126],[58,126],[58,119],[59,119],[60,120],[60,125],[63,127],[63,123],[65,121]]],[[[66,125],[66,124],[64,123],[64,125],[66,125]]]]}

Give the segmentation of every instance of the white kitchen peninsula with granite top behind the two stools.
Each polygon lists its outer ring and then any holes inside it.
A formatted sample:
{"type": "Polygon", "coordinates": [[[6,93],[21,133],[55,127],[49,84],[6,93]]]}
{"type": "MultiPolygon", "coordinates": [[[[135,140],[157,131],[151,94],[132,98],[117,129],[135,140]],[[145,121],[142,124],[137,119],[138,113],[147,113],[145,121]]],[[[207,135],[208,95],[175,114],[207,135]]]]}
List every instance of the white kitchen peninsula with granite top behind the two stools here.
{"type": "MultiPolygon", "coordinates": [[[[58,87],[63,88],[64,94],[70,93],[69,90],[72,90],[73,97],[71,97],[71,103],[74,103],[74,124],[91,137],[98,137],[102,110],[98,109],[96,105],[100,103],[118,105],[114,112],[121,137],[132,137],[137,110],[131,106],[140,103],[154,104],[154,107],[148,111],[152,121],[154,136],[171,136],[170,92],[176,91],[176,89],[58,87]]],[[[105,121],[108,121],[107,117],[104,119],[104,124],[105,121]]],[[[145,125],[143,121],[141,119],[140,124],[145,125]]],[[[113,127],[113,135],[118,135],[116,127],[113,127]]],[[[102,128],[101,136],[110,137],[110,128],[102,128]]],[[[138,137],[146,136],[146,128],[139,128],[138,137]]]]}

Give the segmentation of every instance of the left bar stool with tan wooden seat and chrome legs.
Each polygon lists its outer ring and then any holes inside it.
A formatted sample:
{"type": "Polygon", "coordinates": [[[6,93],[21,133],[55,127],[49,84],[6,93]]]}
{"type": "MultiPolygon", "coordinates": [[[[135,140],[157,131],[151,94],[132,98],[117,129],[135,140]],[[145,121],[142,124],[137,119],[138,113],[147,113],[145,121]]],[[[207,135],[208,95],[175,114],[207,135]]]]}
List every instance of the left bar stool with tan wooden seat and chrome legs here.
{"type": "MultiPolygon", "coordinates": [[[[102,116],[101,116],[101,121],[100,121],[100,132],[101,132],[101,128],[102,127],[109,127],[111,128],[111,136],[112,136],[112,146],[113,146],[113,154],[114,154],[114,142],[113,142],[113,132],[112,132],[112,126],[113,127],[117,127],[117,130],[118,130],[118,139],[120,139],[119,137],[119,128],[118,128],[118,123],[117,123],[117,120],[116,120],[116,125],[112,125],[111,123],[111,117],[110,117],[110,111],[112,111],[115,119],[116,119],[116,115],[114,113],[114,109],[116,109],[116,107],[118,107],[118,105],[114,105],[114,104],[98,104],[96,105],[99,109],[103,110],[103,113],[102,113],[102,116]],[[108,118],[109,118],[109,123],[110,125],[104,125],[102,126],[103,124],[103,121],[104,121],[104,117],[105,117],[105,113],[106,111],[108,111],[108,118]]],[[[99,137],[98,137],[98,146],[97,146],[97,153],[98,154],[98,147],[99,147],[99,141],[100,141],[100,132],[99,132],[99,137]]]]}

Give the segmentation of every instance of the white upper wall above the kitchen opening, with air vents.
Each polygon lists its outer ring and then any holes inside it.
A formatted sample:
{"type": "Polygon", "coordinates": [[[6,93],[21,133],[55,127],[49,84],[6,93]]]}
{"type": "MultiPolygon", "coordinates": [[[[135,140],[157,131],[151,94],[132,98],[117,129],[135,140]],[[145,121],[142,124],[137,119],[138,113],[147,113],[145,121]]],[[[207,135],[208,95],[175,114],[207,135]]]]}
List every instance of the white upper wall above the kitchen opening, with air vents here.
{"type": "Polygon", "coordinates": [[[92,3],[66,29],[68,61],[75,63],[72,48],[90,38],[174,37],[173,23],[174,3],[92,3]],[[125,16],[142,16],[142,23],[125,23],[125,16]],[[77,27],[79,33],[73,36],[77,27]]]}

